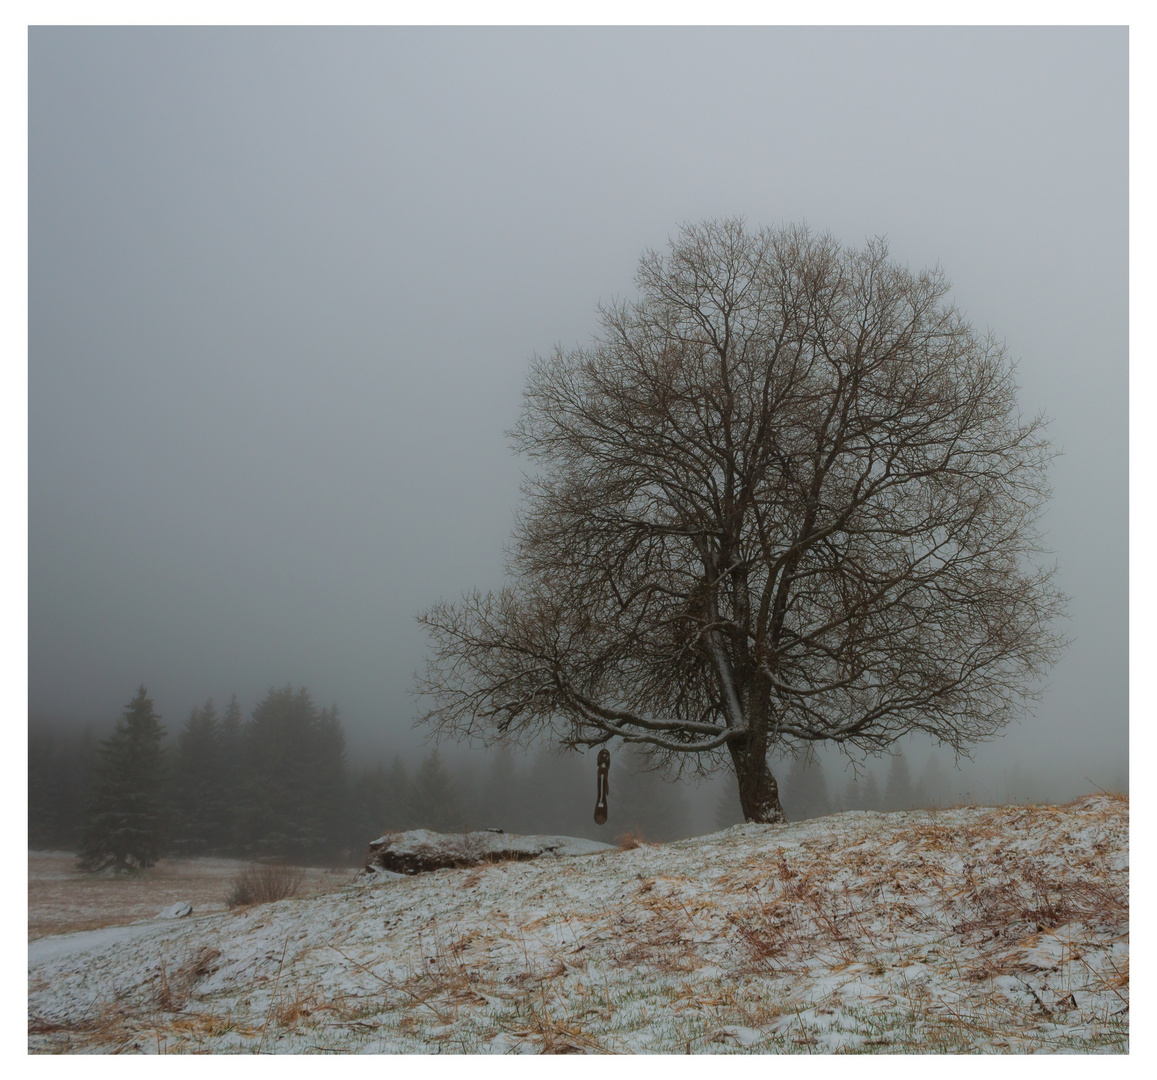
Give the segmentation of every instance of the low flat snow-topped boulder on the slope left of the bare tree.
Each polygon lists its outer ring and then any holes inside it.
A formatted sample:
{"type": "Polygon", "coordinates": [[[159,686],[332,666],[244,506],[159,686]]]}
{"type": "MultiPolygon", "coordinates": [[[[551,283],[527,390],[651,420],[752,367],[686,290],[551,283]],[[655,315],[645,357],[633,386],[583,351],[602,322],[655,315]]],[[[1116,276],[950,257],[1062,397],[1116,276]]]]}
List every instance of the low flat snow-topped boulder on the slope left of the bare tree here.
{"type": "Polygon", "coordinates": [[[524,861],[543,855],[592,855],[613,850],[610,844],[573,836],[515,836],[493,829],[485,832],[411,829],[407,832],[386,832],[374,840],[362,873],[368,877],[423,874],[481,862],[524,861]]]}

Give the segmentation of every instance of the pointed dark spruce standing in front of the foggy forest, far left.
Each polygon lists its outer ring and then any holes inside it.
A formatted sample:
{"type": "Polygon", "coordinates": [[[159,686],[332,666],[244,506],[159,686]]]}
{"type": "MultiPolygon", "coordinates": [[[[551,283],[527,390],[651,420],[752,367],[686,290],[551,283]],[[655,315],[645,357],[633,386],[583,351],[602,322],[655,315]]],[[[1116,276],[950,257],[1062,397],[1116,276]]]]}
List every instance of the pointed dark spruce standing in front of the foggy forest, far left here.
{"type": "Polygon", "coordinates": [[[97,780],[81,840],[88,870],[153,866],[167,839],[164,728],[145,686],[101,743],[97,780]]]}

